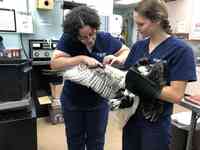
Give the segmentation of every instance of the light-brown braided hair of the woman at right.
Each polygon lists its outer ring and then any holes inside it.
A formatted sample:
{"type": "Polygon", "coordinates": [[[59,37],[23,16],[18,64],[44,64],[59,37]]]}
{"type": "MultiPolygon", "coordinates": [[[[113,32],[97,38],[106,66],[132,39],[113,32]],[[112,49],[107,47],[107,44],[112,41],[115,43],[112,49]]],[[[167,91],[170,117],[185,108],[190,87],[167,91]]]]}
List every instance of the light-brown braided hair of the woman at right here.
{"type": "Polygon", "coordinates": [[[163,0],[142,0],[134,10],[152,22],[160,21],[163,30],[168,34],[172,34],[167,7],[163,0]]]}

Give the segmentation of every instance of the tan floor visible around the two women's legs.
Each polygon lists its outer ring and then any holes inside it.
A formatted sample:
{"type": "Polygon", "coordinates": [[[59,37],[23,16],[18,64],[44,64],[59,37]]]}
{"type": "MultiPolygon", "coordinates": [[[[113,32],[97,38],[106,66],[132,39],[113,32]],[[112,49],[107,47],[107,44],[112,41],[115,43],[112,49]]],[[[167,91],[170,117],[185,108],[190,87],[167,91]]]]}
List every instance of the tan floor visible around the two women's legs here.
{"type": "MultiPolygon", "coordinates": [[[[188,111],[175,105],[174,112],[188,111]]],[[[110,115],[105,150],[121,150],[121,130],[112,121],[110,115]]],[[[67,150],[65,142],[64,125],[52,125],[46,119],[38,119],[38,150],[67,150]]]]}

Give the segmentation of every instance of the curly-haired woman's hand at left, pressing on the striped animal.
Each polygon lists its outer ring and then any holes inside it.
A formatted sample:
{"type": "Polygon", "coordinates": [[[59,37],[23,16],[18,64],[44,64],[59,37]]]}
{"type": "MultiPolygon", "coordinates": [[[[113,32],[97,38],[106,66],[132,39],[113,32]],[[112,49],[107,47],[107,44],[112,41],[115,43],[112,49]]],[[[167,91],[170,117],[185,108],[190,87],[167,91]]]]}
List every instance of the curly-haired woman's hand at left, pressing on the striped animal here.
{"type": "Polygon", "coordinates": [[[100,63],[95,58],[89,57],[89,56],[81,56],[82,57],[82,63],[86,64],[89,68],[95,68],[95,67],[103,67],[103,64],[100,63]]]}

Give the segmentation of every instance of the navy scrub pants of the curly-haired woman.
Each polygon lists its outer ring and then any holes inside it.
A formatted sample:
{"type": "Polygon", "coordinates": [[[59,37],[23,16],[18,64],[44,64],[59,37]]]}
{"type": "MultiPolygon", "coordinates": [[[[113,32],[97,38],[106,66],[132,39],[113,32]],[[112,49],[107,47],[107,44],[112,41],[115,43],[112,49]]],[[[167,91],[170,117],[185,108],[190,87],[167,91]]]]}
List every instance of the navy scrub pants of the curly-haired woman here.
{"type": "Polygon", "coordinates": [[[108,107],[94,110],[64,110],[69,150],[103,150],[108,107]]]}

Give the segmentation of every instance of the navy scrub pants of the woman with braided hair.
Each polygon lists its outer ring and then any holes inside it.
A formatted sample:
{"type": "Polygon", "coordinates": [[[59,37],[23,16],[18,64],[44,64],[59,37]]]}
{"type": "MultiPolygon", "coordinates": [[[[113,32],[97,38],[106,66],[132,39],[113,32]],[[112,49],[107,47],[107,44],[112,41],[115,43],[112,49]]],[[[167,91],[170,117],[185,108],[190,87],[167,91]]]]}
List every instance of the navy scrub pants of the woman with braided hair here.
{"type": "Polygon", "coordinates": [[[123,128],[122,150],[169,150],[170,119],[151,123],[132,116],[123,128]]]}

